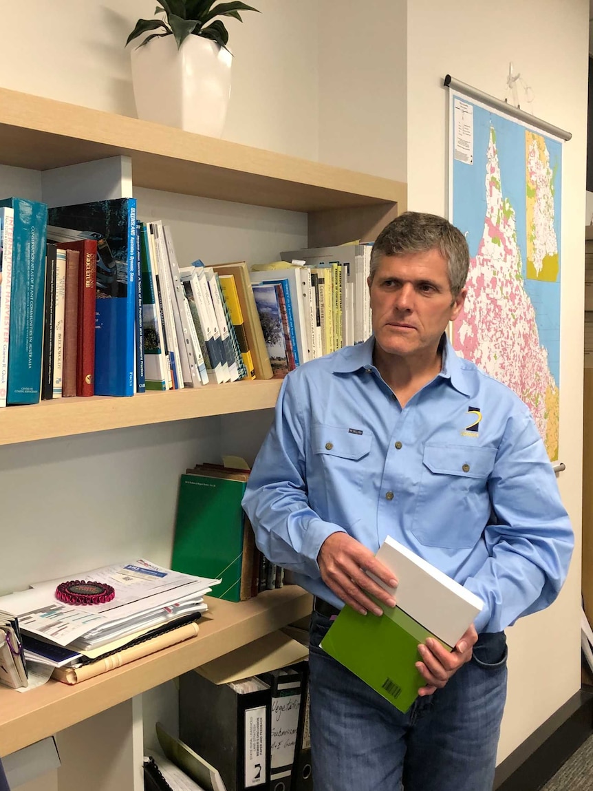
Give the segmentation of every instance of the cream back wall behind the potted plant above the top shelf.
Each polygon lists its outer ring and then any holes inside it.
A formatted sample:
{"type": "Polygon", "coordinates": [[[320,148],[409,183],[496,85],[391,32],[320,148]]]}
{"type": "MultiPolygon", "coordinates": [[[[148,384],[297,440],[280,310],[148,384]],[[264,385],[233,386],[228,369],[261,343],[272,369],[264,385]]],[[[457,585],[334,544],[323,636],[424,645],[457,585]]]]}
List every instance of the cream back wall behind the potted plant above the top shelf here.
{"type": "MultiPolygon", "coordinates": [[[[136,115],[130,47],[153,0],[100,3],[31,0],[2,6],[2,86],[36,96],[136,115]],[[21,30],[26,35],[21,35],[21,30]]],[[[229,19],[232,95],[224,138],[316,159],[317,17],[315,0],[257,0],[243,23],[229,19]]]]}

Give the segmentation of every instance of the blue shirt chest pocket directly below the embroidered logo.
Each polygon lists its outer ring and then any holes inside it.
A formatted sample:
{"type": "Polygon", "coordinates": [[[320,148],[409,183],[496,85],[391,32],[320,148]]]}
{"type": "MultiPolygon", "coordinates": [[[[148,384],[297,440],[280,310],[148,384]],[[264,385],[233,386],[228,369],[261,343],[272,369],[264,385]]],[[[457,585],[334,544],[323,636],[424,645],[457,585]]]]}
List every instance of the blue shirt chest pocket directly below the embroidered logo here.
{"type": "Polygon", "coordinates": [[[426,445],[412,532],[427,547],[474,547],[490,516],[497,448],[426,445]]]}

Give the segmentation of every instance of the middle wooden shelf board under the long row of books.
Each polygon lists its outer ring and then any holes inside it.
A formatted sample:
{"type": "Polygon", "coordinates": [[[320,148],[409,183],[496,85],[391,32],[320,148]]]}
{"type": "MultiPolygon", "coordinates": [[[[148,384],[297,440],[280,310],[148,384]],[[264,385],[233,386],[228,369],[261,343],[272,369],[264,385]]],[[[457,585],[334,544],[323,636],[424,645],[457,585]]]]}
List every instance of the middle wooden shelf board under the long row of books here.
{"type": "Polygon", "coordinates": [[[130,398],[62,398],[0,409],[0,445],[274,407],[281,380],[206,384],[130,398]]]}

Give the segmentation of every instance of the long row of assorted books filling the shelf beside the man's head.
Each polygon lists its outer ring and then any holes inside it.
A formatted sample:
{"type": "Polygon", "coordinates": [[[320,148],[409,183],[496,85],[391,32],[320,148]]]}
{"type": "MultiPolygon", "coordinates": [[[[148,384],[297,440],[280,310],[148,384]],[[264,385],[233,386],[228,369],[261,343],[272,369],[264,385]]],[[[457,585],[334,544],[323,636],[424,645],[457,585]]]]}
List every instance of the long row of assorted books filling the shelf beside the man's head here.
{"type": "Polygon", "coordinates": [[[180,267],[135,199],[0,201],[0,406],[282,377],[370,334],[369,244],[180,267]]]}

